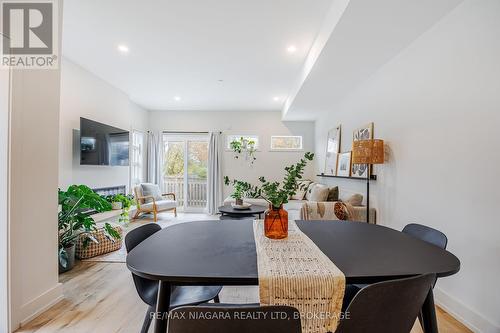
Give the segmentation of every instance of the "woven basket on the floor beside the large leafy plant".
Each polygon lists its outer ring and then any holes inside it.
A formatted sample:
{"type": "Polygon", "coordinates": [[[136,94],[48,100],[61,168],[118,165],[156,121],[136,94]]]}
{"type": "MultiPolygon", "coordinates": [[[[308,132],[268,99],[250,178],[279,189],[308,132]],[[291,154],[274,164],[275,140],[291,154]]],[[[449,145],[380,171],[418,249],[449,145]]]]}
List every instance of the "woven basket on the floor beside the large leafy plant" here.
{"type": "Polygon", "coordinates": [[[113,252],[119,250],[122,247],[121,236],[123,236],[122,227],[119,225],[113,225],[113,229],[115,229],[120,234],[120,239],[115,240],[114,242],[109,240],[104,235],[104,229],[99,228],[96,231],[92,232],[92,236],[99,243],[94,243],[92,241],[87,242],[87,246],[84,247],[85,236],[80,235],[78,241],[76,242],[76,251],[75,255],[78,259],[88,259],[96,256],[100,256],[101,254],[113,252]]]}

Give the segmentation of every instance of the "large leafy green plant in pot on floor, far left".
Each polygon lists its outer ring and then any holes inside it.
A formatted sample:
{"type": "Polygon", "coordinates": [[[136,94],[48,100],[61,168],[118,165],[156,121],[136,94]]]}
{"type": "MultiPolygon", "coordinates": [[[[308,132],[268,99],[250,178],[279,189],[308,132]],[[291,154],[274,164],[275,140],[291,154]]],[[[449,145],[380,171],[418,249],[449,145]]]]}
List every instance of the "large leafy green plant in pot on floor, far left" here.
{"type": "MultiPolygon", "coordinates": [[[[98,242],[92,236],[97,230],[90,212],[111,210],[111,204],[85,185],[71,185],[66,191],[59,189],[59,272],[66,272],[75,263],[76,241],[83,235],[84,245],[98,242]]],[[[109,223],[104,225],[104,233],[111,240],[119,240],[120,234],[109,223]]]]}

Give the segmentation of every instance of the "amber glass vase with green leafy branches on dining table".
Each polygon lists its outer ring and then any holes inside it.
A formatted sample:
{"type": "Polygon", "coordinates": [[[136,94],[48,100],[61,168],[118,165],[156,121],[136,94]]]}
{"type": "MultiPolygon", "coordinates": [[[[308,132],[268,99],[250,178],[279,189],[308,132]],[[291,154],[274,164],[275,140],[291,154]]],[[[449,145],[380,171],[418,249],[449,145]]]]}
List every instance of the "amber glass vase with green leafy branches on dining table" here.
{"type": "Polygon", "coordinates": [[[307,152],[298,163],[285,168],[285,177],[280,182],[270,182],[260,177],[260,195],[269,203],[269,209],[264,217],[264,232],[266,237],[273,239],[288,236],[288,212],[283,205],[299,189],[298,181],[302,178],[307,161],[312,161],[314,154],[307,152]]]}

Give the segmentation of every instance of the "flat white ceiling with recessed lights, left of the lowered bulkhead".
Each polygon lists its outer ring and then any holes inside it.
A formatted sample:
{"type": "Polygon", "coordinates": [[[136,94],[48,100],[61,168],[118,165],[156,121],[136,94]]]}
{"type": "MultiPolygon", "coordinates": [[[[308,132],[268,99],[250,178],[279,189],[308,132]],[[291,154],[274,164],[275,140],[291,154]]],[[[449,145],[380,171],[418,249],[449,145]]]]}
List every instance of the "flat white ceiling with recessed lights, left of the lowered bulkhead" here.
{"type": "Polygon", "coordinates": [[[278,111],[331,4],[65,0],[63,55],[149,110],[278,111]]]}

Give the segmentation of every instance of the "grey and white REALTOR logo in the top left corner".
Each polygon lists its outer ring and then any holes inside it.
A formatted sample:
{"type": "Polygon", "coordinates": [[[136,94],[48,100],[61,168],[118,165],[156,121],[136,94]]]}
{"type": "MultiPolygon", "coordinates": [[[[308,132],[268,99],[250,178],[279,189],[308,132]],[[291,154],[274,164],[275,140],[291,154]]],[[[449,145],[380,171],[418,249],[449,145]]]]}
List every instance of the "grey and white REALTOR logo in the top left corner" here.
{"type": "Polygon", "coordinates": [[[57,0],[1,1],[2,67],[57,68],[57,0]]]}

